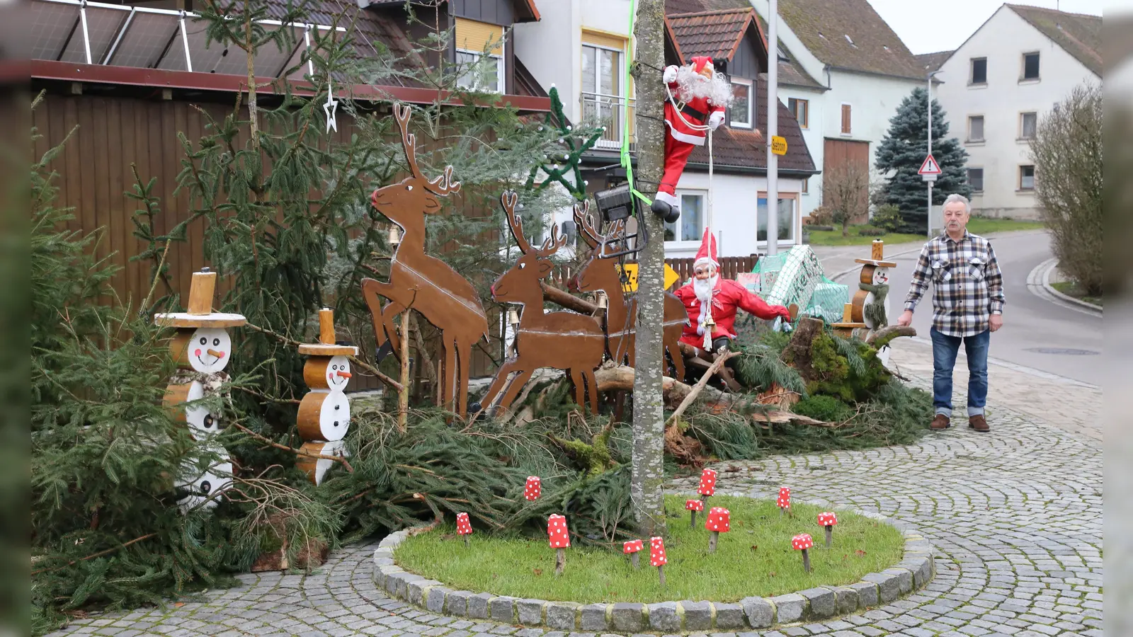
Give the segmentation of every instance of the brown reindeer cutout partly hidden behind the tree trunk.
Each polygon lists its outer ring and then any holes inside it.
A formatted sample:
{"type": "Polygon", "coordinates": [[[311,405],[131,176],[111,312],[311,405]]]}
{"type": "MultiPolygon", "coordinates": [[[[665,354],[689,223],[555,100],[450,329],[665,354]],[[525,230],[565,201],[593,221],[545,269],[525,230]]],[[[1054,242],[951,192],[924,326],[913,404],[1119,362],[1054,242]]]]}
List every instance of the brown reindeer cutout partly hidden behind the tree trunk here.
{"type": "MultiPolygon", "coordinates": [[[[606,292],[606,347],[610,359],[619,365],[634,366],[637,340],[637,299],[625,298],[621,275],[617,273],[616,260],[603,255],[614,252],[613,245],[619,236],[625,233],[625,221],[619,220],[611,226],[606,235],[598,232],[590,219],[590,202],[583,202],[580,207],[574,205],[574,223],[579,236],[590,246],[590,257],[578,273],[578,289],[583,292],[602,290],[606,292]],[[600,254],[599,254],[600,253],[600,254]]],[[[675,379],[684,380],[684,357],[678,341],[681,331],[689,321],[684,304],[675,295],[665,292],[665,324],[662,331],[665,353],[673,359],[675,379]]]]}

